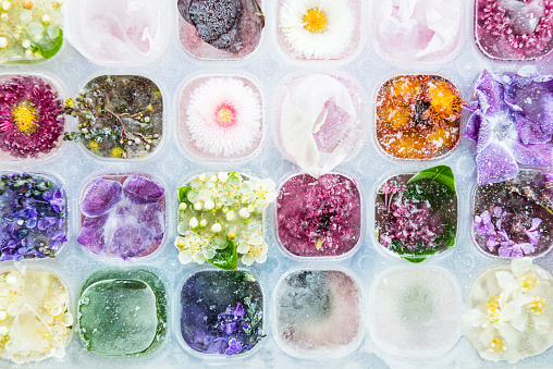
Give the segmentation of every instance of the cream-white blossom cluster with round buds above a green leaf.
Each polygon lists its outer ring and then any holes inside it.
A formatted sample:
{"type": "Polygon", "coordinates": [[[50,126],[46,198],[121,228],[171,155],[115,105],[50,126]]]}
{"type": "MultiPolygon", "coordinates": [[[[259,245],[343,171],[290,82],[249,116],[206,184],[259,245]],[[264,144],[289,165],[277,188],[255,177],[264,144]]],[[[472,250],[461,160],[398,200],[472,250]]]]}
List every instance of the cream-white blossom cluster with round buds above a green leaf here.
{"type": "Polygon", "coordinates": [[[276,198],[272,180],[221,172],[200,174],[187,185],[175,241],[182,263],[202,263],[230,244],[247,266],[267,260],[262,212],[276,198]]]}

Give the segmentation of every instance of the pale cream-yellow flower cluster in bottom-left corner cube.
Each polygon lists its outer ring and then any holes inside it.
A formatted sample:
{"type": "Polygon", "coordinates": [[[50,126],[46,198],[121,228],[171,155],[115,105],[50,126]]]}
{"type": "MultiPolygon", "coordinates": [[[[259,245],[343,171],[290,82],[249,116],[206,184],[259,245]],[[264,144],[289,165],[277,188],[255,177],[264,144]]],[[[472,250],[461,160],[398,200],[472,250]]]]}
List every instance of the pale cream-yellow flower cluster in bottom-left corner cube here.
{"type": "Polygon", "coordinates": [[[53,274],[0,274],[0,357],[17,364],[63,357],[73,324],[65,286],[53,274]]]}

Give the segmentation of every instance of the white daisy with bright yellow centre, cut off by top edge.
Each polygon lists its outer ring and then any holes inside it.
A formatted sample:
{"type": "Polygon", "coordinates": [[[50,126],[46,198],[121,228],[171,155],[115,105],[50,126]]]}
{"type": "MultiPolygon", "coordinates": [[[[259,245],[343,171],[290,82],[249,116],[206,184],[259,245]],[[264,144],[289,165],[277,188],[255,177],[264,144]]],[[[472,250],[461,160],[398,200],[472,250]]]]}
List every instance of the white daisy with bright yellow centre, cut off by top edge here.
{"type": "Polygon", "coordinates": [[[348,0],[284,0],[280,29],[307,59],[335,59],[349,47],[355,15],[348,0]]]}

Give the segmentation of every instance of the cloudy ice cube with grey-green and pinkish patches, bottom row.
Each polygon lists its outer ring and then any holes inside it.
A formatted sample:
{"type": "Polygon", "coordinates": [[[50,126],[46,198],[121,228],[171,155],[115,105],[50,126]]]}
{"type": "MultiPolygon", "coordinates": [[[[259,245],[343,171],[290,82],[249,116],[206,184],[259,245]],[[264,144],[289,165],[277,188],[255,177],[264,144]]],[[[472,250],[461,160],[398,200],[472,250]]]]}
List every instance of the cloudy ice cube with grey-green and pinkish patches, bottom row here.
{"type": "Polygon", "coordinates": [[[295,356],[340,357],[361,334],[360,292],[341,271],[296,271],[275,293],[276,336],[295,356]]]}

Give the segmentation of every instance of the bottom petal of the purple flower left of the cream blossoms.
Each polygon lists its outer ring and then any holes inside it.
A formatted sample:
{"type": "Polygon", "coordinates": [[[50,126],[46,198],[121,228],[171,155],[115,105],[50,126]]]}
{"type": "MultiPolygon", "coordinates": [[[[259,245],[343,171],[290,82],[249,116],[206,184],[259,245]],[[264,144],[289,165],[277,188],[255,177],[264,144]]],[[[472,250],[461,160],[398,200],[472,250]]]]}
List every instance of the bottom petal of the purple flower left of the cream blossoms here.
{"type": "Polygon", "coordinates": [[[111,249],[123,259],[139,256],[148,249],[153,237],[144,226],[125,224],[115,231],[111,249]]]}

